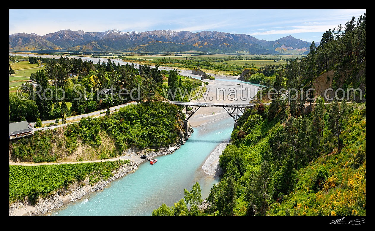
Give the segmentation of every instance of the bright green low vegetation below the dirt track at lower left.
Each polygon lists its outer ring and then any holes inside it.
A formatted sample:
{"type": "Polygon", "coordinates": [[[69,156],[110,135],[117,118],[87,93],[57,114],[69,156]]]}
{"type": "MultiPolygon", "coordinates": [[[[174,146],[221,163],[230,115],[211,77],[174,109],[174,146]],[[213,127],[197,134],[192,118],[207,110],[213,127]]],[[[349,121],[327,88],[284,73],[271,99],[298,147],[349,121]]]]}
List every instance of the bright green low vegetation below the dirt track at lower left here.
{"type": "Polygon", "coordinates": [[[73,182],[89,177],[89,184],[113,177],[113,170],[128,165],[130,160],[61,165],[17,166],[9,165],[9,202],[23,201],[32,205],[39,196],[46,197],[73,182]]]}

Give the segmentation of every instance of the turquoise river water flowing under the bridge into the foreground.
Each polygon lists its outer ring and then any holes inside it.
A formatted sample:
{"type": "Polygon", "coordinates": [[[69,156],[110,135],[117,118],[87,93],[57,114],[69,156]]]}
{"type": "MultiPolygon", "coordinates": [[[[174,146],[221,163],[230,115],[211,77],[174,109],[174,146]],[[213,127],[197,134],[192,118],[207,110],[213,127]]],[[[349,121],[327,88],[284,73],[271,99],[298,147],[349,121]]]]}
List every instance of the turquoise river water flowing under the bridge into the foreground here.
{"type": "Polygon", "coordinates": [[[228,141],[234,121],[226,116],[194,128],[192,136],[174,153],[158,156],[150,165],[143,162],[133,172],[112,181],[102,191],[90,193],[79,201],[70,202],[52,215],[151,215],[162,203],[172,206],[183,198],[183,190],[191,190],[198,182],[202,198],[219,177],[205,174],[203,163],[224,141],[228,141]]]}

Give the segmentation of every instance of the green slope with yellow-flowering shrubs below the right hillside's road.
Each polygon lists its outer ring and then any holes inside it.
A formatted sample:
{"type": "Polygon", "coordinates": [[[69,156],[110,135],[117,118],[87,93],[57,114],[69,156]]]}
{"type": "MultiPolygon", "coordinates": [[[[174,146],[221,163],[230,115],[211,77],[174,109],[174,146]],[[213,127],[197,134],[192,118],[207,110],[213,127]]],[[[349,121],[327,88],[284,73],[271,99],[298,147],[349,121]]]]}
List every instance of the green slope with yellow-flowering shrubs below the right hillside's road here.
{"type": "Polygon", "coordinates": [[[220,156],[223,180],[211,189],[208,210],[222,215],[366,214],[365,104],[322,101],[302,117],[280,108],[272,118],[271,107],[260,108],[241,118],[220,156]],[[230,191],[235,192],[231,198],[222,197],[230,191]]]}

